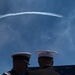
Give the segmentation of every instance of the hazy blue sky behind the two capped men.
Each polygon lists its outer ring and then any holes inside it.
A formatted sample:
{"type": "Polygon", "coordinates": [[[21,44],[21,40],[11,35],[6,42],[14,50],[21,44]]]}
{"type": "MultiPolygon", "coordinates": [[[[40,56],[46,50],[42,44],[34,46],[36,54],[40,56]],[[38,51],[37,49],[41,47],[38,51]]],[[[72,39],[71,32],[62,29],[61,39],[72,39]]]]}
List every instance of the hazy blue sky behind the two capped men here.
{"type": "Polygon", "coordinates": [[[63,16],[17,15],[0,19],[0,73],[12,69],[11,55],[32,53],[30,66],[38,66],[36,50],[55,50],[54,65],[75,64],[74,0],[0,0],[0,16],[19,12],[49,12],[63,16]]]}

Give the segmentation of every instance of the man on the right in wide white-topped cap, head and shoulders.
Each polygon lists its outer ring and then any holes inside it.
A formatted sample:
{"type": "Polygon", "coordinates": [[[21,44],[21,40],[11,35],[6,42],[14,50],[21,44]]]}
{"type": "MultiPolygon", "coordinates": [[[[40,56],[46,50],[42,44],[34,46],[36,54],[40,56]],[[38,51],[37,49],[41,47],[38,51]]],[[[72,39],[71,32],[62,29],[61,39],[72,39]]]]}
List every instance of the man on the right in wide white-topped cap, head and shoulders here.
{"type": "Polygon", "coordinates": [[[60,75],[53,69],[53,56],[57,54],[55,51],[36,51],[38,54],[39,70],[30,72],[31,75],[60,75]]]}

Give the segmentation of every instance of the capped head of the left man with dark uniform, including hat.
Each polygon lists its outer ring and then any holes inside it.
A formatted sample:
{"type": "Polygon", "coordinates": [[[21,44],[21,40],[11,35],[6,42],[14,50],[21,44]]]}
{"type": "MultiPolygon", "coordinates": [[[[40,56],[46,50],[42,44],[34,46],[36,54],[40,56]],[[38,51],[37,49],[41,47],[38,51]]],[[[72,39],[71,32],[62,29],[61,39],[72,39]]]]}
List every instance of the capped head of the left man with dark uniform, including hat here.
{"type": "Polygon", "coordinates": [[[25,71],[28,68],[30,57],[31,53],[29,52],[18,52],[13,54],[13,69],[17,72],[25,71]]]}

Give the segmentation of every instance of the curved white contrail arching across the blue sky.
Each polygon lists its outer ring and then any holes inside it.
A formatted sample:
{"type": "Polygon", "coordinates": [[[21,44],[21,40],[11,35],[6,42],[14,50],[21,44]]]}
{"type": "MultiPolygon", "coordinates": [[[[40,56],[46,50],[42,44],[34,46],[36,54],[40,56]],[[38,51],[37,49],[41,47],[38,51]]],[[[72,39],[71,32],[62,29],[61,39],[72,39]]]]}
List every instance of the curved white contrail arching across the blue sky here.
{"type": "Polygon", "coordinates": [[[38,15],[46,15],[46,16],[55,16],[62,18],[62,15],[54,14],[54,13],[48,13],[48,12],[19,12],[19,13],[10,13],[5,15],[0,15],[1,18],[9,17],[9,16],[16,16],[16,15],[24,15],[24,14],[38,14],[38,15]]]}

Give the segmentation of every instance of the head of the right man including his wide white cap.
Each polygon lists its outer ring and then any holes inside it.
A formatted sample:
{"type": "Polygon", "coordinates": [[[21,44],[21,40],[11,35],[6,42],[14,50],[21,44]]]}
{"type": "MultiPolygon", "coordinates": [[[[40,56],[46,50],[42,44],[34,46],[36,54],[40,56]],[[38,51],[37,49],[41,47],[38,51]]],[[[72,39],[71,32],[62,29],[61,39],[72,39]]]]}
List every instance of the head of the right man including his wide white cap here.
{"type": "Polygon", "coordinates": [[[36,51],[38,54],[38,63],[40,68],[44,68],[46,66],[53,66],[53,56],[57,53],[51,50],[40,50],[36,51]]]}

